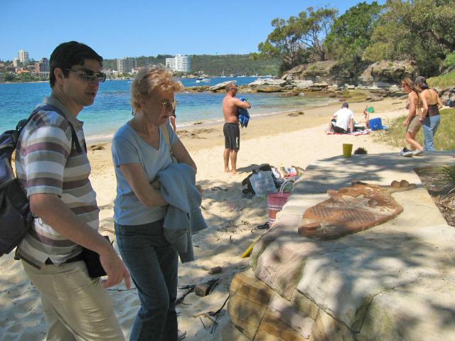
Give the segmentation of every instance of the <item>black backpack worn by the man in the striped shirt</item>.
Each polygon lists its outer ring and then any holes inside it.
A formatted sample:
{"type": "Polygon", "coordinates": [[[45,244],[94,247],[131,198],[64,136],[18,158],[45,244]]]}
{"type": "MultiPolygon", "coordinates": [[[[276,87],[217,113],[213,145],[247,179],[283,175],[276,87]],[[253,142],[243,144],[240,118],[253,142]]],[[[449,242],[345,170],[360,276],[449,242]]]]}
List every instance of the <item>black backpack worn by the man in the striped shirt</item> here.
{"type": "MultiPolygon", "coordinates": [[[[17,247],[33,223],[28,198],[11,167],[11,155],[16,149],[23,127],[41,110],[57,112],[65,117],[60,109],[45,104],[33,110],[28,119],[19,121],[16,129],[0,135],[0,256],[9,254],[17,247]]],[[[77,152],[81,153],[82,148],[72,124],[70,128],[71,150],[75,147],[77,152]]]]}

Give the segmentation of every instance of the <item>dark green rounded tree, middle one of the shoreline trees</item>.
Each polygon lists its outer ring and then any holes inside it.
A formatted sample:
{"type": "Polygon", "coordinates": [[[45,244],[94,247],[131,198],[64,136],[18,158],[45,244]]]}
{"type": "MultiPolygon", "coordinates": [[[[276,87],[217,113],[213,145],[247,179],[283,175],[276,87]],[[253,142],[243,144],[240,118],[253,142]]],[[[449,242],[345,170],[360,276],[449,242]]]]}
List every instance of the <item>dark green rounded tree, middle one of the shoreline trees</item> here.
{"type": "Polygon", "coordinates": [[[363,64],[363,51],[370,45],[371,36],[378,24],[382,6],[373,1],[361,2],[336,18],[331,33],[326,39],[326,46],[337,65],[342,67],[349,77],[354,77],[363,64]]]}

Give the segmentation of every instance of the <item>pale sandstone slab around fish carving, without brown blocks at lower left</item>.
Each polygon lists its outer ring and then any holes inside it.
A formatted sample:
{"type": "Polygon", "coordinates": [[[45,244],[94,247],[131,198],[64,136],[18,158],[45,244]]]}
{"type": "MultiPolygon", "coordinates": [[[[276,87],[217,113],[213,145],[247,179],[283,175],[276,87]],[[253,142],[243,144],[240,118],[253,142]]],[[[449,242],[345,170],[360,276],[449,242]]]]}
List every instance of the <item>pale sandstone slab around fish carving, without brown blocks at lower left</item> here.
{"type": "Polygon", "coordinates": [[[287,301],[301,296],[315,303],[365,340],[455,340],[455,227],[414,172],[454,163],[449,152],[312,163],[252,252],[256,277],[287,301]],[[297,234],[304,211],[326,200],[328,189],[352,180],[390,185],[402,179],[417,188],[392,194],[404,207],[395,219],[333,241],[297,234]]]}

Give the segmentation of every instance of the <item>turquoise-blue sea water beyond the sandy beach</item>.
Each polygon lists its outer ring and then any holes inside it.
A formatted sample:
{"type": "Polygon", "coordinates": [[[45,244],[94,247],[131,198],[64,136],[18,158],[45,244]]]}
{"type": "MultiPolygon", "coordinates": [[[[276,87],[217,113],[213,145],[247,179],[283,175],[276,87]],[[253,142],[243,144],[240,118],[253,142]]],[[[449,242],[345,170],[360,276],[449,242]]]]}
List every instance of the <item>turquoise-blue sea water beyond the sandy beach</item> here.
{"type": "MultiPolygon", "coordinates": [[[[210,82],[196,83],[193,79],[183,79],[183,85],[215,85],[228,80],[236,80],[237,85],[246,85],[256,77],[219,77],[210,82]]],[[[122,124],[131,118],[129,104],[131,80],[107,80],[100,84],[95,104],[86,107],[77,117],[84,121],[87,140],[105,140],[114,134],[122,124]]],[[[14,129],[17,122],[28,117],[43,97],[50,94],[48,82],[0,84],[0,132],[14,129]]],[[[211,92],[182,92],[176,94],[178,106],[176,123],[178,127],[190,126],[195,122],[223,121],[221,102],[225,94],[211,92]]],[[[252,104],[250,115],[275,114],[290,111],[296,107],[317,107],[326,105],[330,99],[296,96],[282,97],[279,94],[237,94],[252,104]]]]}

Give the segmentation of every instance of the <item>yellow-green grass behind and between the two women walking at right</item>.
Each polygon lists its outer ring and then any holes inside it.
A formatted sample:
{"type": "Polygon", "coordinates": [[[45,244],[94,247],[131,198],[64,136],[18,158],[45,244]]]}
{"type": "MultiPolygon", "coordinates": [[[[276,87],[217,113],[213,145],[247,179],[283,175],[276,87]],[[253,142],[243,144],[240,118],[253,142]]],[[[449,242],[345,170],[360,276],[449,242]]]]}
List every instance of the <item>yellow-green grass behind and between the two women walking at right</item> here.
{"type": "MultiPolygon", "coordinates": [[[[390,121],[387,124],[388,130],[378,131],[380,134],[374,135],[375,141],[397,148],[403,148],[406,144],[406,128],[403,126],[405,119],[406,116],[402,116],[390,121]]],[[[416,140],[419,144],[423,145],[423,129],[419,130],[416,140]]],[[[434,136],[434,146],[438,151],[455,150],[455,109],[441,110],[441,124],[439,125],[436,136],[434,136]]]]}

